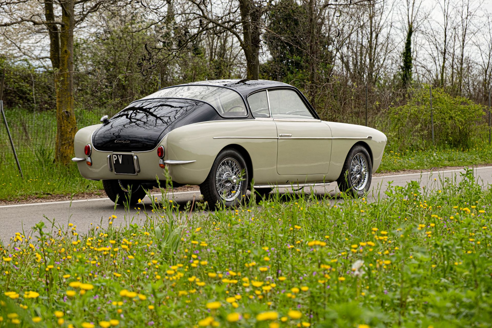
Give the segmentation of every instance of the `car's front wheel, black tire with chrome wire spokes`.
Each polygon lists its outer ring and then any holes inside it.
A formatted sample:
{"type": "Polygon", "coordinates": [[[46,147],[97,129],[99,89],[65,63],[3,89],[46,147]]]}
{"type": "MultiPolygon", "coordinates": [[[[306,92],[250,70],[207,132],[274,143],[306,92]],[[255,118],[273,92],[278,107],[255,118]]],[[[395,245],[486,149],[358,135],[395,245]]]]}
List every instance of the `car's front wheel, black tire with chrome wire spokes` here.
{"type": "Polygon", "coordinates": [[[369,192],[371,180],[372,180],[372,163],[370,160],[369,152],[364,146],[355,145],[348,152],[347,158],[345,159],[345,162],[343,164],[340,177],[337,180],[338,189],[340,189],[341,192],[348,193],[352,196],[362,197],[367,192],[369,192]],[[356,156],[357,158],[354,161],[354,158],[356,156]],[[354,161],[353,164],[355,164],[354,165],[355,170],[351,175],[350,166],[352,164],[352,161],[354,161]],[[361,161],[365,161],[366,163],[365,168],[364,165],[359,165],[361,161]],[[357,172],[357,170],[360,171],[357,172]],[[354,183],[356,185],[354,185],[354,183]]]}

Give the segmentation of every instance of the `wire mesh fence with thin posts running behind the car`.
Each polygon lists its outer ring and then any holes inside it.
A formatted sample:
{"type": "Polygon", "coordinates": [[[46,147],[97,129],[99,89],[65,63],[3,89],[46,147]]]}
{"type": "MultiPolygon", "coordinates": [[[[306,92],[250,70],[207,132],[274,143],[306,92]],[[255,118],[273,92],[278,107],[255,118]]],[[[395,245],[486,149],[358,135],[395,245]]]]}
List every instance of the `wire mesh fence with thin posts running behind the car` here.
{"type": "MultiPolygon", "coordinates": [[[[22,166],[53,160],[57,131],[53,75],[30,72],[24,74],[26,76],[30,79],[23,83],[15,82],[18,76],[7,79],[9,92],[4,97],[4,112],[22,166]]],[[[103,115],[116,114],[132,100],[160,86],[157,75],[125,75],[123,80],[109,83],[99,77],[76,74],[78,128],[99,123],[103,115]]],[[[335,81],[322,86],[298,87],[322,119],[378,129],[388,136],[388,147],[392,149],[463,147],[489,140],[488,97],[477,103],[436,89],[431,111],[428,86],[414,89],[347,87],[335,81]],[[434,124],[431,124],[431,113],[434,124]]],[[[0,126],[0,169],[15,167],[6,129],[0,126]]]]}

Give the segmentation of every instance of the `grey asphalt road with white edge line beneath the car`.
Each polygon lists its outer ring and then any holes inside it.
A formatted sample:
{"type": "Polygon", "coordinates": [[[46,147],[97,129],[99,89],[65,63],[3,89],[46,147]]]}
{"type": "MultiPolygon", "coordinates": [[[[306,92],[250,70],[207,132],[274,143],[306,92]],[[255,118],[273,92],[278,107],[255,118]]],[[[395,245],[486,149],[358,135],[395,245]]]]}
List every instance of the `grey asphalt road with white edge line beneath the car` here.
{"type": "MultiPolygon", "coordinates": [[[[441,170],[427,173],[412,173],[412,174],[400,174],[400,175],[388,175],[372,178],[372,191],[368,200],[377,197],[378,193],[383,193],[388,185],[389,181],[393,181],[393,185],[404,186],[410,180],[417,180],[421,186],[426,188],[436,188],[439,185],[439,177],[441,178],[453,178],[460,179],[460,173],[463,170],[441,170]],[[434,180],[436,178],[436,180],[434,180]]],[[[479,167],[475,169],[475,177],[484,186],[489,183],[492,184],[492,166],[479,167]]],[[[305,188],[306,192],[309,192],[309,188],[305,188]]],[[[292,190],[286,190],[281,188],[280,193],[292,193],[292,190]]],[[[337,183],[333,182],[330,185],[314,188],[313,192],[316,194],[330,193],[335,196],[338,193],[337,183]]],[[[169,195],[169,199],[173,197],[174,202],[185,206],[188,201],[192,201],[193,196],[196,200],[200,199],[199,191],[184,191],[169,195]]],[[[158,196],[156,196],[158,197],[158,196]]],[[[335,201],[335,200],[334,200],[335,201]]],[[[145,198],[144,203],[149,204],[150,199],[145,198]]],[[[123,207],[115,205],[108,198],[88,199],[88,200],[76,200],[76,201],[62,201],[62,202],[49,202],[49,203],[36,203],[36,204],[24,204],[24,205],[6,205],[0,206],[0,239],[3,241],[9,240],[16,232],[24,231],[28,233],[31,231],[31,227],[38,223],[40,220],[44,220],[45,223],[51,227],[49,220],[55,219],[57,225],[65,226],[71,222],[77,226],[79,233],[85,233],[88,231],[91,223],[93,225],[100,225],[103,227],[108,226],[108,217],[112,214],[118,216],[114,220],[114,226],[118,226],[124,220],[133,220],[133,223],[140,223],[142,219],[145,220],[145,214],[137,214],[137,209],[130,209],[125,211],[123,207]],[[44,216],[46,216],[46,219],[44,216]]]]}

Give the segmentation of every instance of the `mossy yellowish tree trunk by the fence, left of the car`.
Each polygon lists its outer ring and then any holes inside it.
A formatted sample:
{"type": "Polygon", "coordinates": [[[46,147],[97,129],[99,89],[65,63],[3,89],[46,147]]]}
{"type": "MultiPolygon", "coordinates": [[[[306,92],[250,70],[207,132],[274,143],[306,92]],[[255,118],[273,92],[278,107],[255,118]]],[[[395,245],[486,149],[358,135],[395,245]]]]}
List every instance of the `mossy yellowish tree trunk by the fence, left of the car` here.
{"type": "Polygon", "coordinates": [[[75,26],[74,0],[62,2],[60,31],[60,66],[55,72],[57,92],[57,141],[55,161],[70,163],[74,154],[73,138],[77,132],[73,99],[73,29],[75,26]]]}

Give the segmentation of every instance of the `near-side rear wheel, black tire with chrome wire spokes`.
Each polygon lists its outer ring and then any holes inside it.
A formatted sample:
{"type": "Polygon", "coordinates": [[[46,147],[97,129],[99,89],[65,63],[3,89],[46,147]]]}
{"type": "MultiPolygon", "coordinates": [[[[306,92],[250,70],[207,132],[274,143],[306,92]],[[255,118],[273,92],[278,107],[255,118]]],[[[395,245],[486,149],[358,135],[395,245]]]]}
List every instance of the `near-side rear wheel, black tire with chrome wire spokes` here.
{"type": "Polygon", "coordinates": [[[204,201],[206,201],[210,207],[214,207],[217,203],[222,204],[225,207],[236,207],[244,199],[243,195],[246,195],[248,183],[249,173],[247,171],[245,159],[238,150],[234,148],[225,148],[218,153],[207,179],[200,184],[200,192],[203,195],[204,201]],[[234,168],[238,166],[239,172],[242,172],[242,174],[233,174],[234,172],[232,171],[237,173],[236,169],[227,171],[227,166],[229,164],[235,165],[234,168]],[[219,169],[219,166],[221,166],[222,177],[218,177],[217,179],[217,170],[219,169]],[[236,183],[228,179],[234,179],[236,183]],[[219,190],[217,189],[216,180],[218,181],[217,183],[222,183],[222,190],[224,190],[223,195],[220,195],[219,190]],[[233,193],[232,191],[235,192],[233,193]]]}

